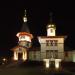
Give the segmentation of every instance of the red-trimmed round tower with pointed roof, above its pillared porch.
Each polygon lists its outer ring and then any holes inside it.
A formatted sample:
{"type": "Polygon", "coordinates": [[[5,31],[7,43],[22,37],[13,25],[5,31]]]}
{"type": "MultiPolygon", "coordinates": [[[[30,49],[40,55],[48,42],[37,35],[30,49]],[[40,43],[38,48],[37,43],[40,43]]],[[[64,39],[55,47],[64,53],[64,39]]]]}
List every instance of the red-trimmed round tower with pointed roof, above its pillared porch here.
{"type": "Polygon", "coordinates": [[[27,16],[26,16],[26,10],[25,10],[25,15],[23,17],[23,25],[21,28],[21,31],[19,33],[17,33],[17,37],[19,38],[19,45],[20,46],[25,46],[25,47],[30,47],[30,45],[26,44],[30,44],[31,43],[31,39],[32,39],[32,34],[30,34],[28,25],[27,25],[27,16]],[[27,43],[26,43],[27,42],[27,43]]]}

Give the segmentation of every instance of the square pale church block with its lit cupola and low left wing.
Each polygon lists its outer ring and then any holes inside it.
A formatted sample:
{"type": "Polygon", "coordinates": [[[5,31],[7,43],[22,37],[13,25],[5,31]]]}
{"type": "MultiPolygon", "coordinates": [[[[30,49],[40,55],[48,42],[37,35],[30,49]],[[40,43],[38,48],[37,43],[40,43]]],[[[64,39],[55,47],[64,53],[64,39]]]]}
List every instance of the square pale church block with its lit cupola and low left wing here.
{"type": "Polygon", "coordinates": [[[64,60],[64,40],[66,36],[56,36],[56,26],[52,23],[52,16],[46,28],[47,36],[38,36],[40,51],[31,51],[30,59],[37,61],[51,58],[64,60]],[[35,58],[33,58],[34,53],[35,58]]]}

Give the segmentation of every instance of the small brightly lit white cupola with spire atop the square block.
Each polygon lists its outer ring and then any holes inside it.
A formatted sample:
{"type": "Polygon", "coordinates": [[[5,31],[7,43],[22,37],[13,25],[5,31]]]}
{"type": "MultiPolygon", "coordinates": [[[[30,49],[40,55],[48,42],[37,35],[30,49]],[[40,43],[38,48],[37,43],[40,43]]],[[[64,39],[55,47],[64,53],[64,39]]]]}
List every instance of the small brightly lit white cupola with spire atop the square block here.
{"type": "Polygon", "coordinates": [[[50,23],[47,25],[47,36],[56,36],[56,27],[52,23],[52,13],[50,13],[50,23]]]}

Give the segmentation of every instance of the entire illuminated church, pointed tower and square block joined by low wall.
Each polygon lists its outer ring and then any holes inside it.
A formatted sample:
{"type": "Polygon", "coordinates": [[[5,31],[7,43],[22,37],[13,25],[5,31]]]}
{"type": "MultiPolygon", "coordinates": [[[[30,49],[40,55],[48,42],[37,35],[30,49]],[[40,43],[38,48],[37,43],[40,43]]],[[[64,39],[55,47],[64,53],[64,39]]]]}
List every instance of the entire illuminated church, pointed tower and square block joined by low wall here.
{"type": "MultiPolygon", "coordinates": [[[[38,36],[39,48],[32,48],[31,39],[33,35],[27,26],[26,10],[23,17],[23,25],[21,31],[17,33],[18,45],[11,50],[14,52],[14,60],[32,60],[43,61],[44,59],[62,59],[64,60],[64,41],[66,36],[56,35],[56,25],[52,21],[52,13],[50,14],[49,24],[46,26],[47,35],[38,36]]],[[[33,38],[34,39],[34,38],[33,38]]]]}

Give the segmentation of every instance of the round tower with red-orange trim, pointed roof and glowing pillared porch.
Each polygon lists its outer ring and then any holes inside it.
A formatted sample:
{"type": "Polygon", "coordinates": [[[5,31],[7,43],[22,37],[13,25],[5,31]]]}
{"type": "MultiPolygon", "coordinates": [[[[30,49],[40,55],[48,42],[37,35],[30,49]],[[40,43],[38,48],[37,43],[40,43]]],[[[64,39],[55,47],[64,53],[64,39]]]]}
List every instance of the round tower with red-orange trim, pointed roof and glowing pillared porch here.
{"type": "Polygon", "coordinates": [[[17,33],[17,37],[19,39],[18,46],[14,47],[12,50],[14,51],[14,60],[27,60],[28,58],[28,49],[31,47],[31,39],[33,38],[32,34],[28,31],[27,27],[27,17],[26,10],[25,16],[23,17],[23,26],[20,32],[17,33]]]}

